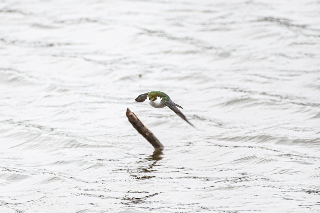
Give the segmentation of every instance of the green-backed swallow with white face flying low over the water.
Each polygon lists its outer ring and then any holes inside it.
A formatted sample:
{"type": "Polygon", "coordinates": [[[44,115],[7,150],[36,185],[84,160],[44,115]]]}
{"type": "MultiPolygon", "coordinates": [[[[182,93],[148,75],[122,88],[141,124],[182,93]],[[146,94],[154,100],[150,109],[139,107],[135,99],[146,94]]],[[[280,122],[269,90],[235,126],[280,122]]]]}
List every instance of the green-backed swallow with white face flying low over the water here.
{"type": "Polygon", "coordinates": [[[171,98],[165,94],[164,92],[160,91],[151,91],[144,94],[139,95],[135,101],[137,102],[144,102],[146,99],[148,99],[148,103],[155,107],[155,108],[163,108],[163,107],[169,107],[172,111],[174,111],[177,115],[179,115],[183,120],[187,121],[188,124],[190,124],[192,127],[195,127],[193,124],[191,124],[186,116],[182,114],[180,110],[178,110],[177,107],[183,109],[181,106],[179,106],[176,103],[173,103],[171,98]]]}

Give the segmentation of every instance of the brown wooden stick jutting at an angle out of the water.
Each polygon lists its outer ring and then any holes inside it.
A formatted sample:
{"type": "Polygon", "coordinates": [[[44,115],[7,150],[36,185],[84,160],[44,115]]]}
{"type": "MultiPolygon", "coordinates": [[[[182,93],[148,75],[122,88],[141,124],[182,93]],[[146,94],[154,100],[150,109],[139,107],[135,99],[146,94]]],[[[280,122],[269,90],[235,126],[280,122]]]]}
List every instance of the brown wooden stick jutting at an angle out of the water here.
{"type": "Polygon", "coordinates": [[[140,133],[154,148],[163,149],[164,146],[162,143],[156,138],[156,136],[148,130],[146,126],[142,124],[142,122],[139,120],[139,118],[127,108],[126,115],[129,119],[129,122],[132,124],[132,126],[140,133]]]}

